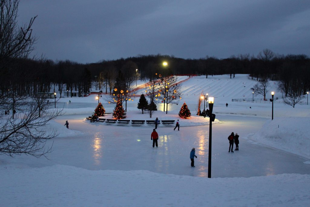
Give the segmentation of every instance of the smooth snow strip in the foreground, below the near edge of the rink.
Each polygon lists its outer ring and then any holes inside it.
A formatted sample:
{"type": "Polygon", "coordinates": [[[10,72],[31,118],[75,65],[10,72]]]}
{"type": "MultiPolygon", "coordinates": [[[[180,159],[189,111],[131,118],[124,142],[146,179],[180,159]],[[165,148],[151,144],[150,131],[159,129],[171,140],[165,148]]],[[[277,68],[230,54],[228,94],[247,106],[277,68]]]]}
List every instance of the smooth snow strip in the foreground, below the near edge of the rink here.
{"type": "Polygon", "coordinates": [[[1,205],[308,206],[310,175],[199,178],[150,171],[2,165],[1,205]],[[25,179],[27,178],[27,179],[25,179]],[[272,183],[272,185],[270,185],[272,183]]]}

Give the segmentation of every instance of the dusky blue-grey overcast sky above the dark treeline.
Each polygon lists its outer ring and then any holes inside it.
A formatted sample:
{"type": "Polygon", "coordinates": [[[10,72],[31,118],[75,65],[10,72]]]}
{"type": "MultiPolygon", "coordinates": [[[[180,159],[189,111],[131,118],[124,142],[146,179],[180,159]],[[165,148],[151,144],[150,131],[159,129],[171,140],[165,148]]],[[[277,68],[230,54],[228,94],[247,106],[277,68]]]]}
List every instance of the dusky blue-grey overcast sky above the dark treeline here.
{"type": "Polygon", "coordinates": [[[54,61],[227,58],[265,48],[310,56],[309,0],[21,0],[19,24],[36,15],[35,54],[54,61]]]}

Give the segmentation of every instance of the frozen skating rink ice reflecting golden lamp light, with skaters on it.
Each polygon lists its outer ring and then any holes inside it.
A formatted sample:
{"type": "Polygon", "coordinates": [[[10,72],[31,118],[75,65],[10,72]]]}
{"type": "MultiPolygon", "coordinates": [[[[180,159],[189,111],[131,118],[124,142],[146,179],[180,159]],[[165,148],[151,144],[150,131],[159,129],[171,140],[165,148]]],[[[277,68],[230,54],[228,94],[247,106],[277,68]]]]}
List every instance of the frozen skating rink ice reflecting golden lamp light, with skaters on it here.
{"type": "MultiPolygon", "coordinates": [[[[159,146],[152,147],[152,127],[108,126],[80,121],[85,115],[61,116],[57,122],[69,120],[69,130],[83,130],[74,137],[50,140],[50,160],[17,156],[10,162],[30,167],[54,164],[72,165],[90,170],[149,170],[155,173],[207,177],[209,125],[158,127],[159,146]],[[190,167],[189,152],[196,147],[196,168],[190,167]]],[[[287,152],[255,144],[246,137],[255,133],[266,119],[257,117],[221,116],[212,125],[212,177],[253,177],[282,173],[310,172],[307,161],[287,152]],[[228,153],[227,137],[240,135],[239,151],[228,153]]],[[[3,157],[5,158],[5,157],[3,157]]]]}

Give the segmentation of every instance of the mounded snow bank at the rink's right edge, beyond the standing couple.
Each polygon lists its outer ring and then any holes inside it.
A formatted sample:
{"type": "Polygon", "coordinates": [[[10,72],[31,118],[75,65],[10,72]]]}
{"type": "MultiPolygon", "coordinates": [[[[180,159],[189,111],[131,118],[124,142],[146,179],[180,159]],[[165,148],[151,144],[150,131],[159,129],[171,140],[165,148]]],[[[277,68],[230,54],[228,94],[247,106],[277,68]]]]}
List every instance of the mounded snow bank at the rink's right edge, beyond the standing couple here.
{"type": "Polygon", "coordinates": [[[251,139],[310,159],[309,123],[309,117],[275,118],[267,121],[251,139]]]}

